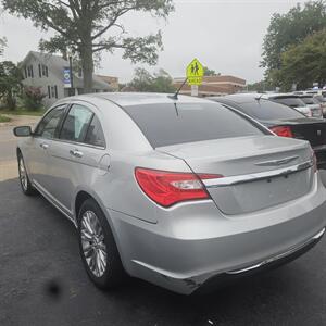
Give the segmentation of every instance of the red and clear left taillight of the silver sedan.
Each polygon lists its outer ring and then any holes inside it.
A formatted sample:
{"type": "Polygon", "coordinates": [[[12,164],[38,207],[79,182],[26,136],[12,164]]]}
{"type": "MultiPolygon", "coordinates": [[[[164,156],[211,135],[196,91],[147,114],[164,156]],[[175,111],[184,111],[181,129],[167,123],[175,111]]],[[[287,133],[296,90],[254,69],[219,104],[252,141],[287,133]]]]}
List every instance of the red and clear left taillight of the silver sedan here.
{"type": "Polygon", "coordinates": [[[175,173],[137,167],[136,179],[142,191],[162,206],[187,200],[209,199],[201,179],[223,177],[215,174],[175,173]]]}

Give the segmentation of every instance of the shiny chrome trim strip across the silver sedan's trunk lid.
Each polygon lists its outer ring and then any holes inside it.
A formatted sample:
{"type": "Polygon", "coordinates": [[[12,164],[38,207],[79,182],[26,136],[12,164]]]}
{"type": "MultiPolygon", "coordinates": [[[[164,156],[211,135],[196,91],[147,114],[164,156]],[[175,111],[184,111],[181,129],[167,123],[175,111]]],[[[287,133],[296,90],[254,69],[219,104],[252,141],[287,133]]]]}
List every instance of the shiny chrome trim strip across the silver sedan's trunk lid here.
{"type": "Polygon", "coordinates": [[[261,179],[268,179],[277,176],[287,176],[289,174],[303,171],[312,166],[313,166],[313,161],[310,160],[308,162],[303,162],[292,166],[266,171],[266,172],[251,173],[246,175],[235,175],[229,177],[221,177],[216,179],[203,179],[202,183],[205,185],[206,188],[235,186],[238,184],[244,184],[244,183],[250,183],[250,181],[255,181],[261,179]]]}

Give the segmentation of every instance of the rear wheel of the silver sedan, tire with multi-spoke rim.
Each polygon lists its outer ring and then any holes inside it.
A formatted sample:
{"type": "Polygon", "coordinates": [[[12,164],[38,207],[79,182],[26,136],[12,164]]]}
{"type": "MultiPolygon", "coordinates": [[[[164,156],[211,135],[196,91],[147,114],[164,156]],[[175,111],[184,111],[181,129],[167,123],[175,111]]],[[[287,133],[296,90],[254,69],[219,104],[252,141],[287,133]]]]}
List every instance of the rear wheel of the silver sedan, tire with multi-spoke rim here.
{"type": "Polygon", "coordinates": [[[113,233],[93,199],[87,199],[78,212],[78,242],[83,264],[98,288],[116,288],[124,283],[126,273],[113,233]]]}

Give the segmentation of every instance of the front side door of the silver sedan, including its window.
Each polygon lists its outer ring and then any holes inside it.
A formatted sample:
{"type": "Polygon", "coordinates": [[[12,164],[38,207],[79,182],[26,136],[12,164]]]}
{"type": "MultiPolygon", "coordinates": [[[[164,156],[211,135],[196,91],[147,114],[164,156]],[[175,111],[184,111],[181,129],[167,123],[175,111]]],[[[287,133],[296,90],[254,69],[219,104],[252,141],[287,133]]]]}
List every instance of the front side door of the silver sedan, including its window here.
{"type": "Polygon", "coordinates": [[[61,104],[49,111],[37,125],[28,146],[28,153],[26,153],[28,170],[33,183],[41,188],[40,190],[48,188],[49,151],[64,117],[65,109],[66,104],[61,104]]]}

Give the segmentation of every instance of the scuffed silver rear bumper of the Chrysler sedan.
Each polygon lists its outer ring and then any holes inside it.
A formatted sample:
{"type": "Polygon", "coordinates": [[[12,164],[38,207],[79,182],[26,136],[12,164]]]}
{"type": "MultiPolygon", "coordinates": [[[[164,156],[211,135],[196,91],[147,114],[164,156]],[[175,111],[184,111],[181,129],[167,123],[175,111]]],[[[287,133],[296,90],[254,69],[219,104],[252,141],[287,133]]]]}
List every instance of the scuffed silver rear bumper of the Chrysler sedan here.
{"type": "Polygon", "coordinates": [[[325,199],[316,178],[308,196],[243,216],[224,216],[210,201],[192,204],[191,213],[189,206],[165,212],[158,224],[113,210],[109,214],[127,273],[190,294],[203,285],[225,284],[309,250],[324,234],[325,199]]]}

